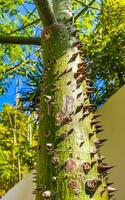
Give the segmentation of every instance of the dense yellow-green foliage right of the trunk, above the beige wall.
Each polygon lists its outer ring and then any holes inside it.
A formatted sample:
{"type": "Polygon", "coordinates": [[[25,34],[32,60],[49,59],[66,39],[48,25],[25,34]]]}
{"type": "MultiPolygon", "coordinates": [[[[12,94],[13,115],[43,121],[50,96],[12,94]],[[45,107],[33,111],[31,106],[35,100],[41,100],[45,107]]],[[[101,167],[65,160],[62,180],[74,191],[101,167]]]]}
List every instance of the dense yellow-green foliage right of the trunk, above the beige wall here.
{"type": "Polygon", "coordinates": [[[96,88],[93,101],[102,105],[125,84],[125,1],[107,0],[94,7],[97,9],[77,20],[77,26],[82,30],[83,51],[96,88]]]}

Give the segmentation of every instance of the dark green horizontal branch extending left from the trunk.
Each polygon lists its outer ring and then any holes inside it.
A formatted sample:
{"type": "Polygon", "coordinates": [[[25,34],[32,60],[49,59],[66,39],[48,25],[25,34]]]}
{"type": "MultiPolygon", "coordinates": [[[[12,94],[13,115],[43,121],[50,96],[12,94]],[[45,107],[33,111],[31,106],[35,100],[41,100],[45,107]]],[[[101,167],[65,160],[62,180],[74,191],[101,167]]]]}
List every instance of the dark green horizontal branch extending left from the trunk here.
{"type": "Polygon", "coordinates": [[[0,35],[1,44],[41,45],[40,37],[3,36],[0,35]]]}

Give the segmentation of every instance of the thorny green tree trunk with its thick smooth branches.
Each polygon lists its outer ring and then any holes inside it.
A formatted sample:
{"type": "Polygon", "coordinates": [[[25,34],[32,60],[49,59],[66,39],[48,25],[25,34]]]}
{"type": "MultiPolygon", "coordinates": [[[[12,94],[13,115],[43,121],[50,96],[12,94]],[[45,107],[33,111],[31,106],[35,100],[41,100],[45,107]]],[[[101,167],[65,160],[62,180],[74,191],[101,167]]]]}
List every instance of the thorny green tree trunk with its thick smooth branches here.
{"type": "MultiPolygon", "coordinates": [[[[94,1],[91,2],[91,4],[94,1]]],[[[112,168],[100,155],[104,139],[83,59],[70,0],[34,0],[43,24],[41,39],[14,36],[0,42],[40,44],[44,67],[40,85],[36,199],[108,200],[112,168]]],[[[90,4],[90,5],[91,5],[90,4]]],[[[82,11],[81,11],[82,12],[82,11]]]]}

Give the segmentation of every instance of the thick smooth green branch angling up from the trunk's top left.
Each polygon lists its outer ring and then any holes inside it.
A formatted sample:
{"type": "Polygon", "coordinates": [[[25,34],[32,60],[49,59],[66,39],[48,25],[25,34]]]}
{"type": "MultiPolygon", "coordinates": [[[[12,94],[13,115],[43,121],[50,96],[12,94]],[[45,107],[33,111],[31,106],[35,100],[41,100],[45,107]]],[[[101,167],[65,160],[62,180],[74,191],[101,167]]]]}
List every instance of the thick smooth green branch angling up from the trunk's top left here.
{"type": "Polygon", "coordinates": [[[56,23],[56,17],[50,0],[34,0],[44,26],[56,23]]]}

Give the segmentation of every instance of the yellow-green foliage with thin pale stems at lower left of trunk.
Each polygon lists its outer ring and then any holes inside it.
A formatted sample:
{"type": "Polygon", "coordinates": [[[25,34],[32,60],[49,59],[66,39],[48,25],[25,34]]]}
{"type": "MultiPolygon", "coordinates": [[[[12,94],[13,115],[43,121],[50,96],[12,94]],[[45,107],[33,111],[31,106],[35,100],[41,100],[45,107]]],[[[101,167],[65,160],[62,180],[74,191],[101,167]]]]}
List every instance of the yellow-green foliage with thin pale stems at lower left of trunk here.
{"type": "Polygon", "coordinates": [[[0,112],[0,196],[34,166],[37,131],[27,117],[9,104],[0,112]]]}

